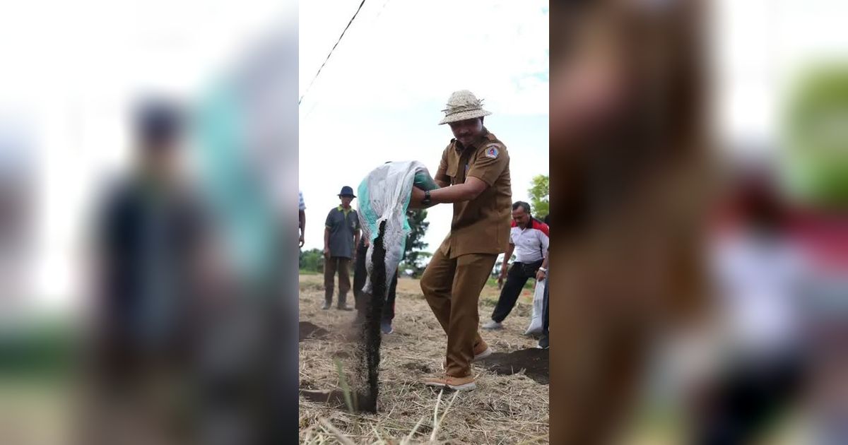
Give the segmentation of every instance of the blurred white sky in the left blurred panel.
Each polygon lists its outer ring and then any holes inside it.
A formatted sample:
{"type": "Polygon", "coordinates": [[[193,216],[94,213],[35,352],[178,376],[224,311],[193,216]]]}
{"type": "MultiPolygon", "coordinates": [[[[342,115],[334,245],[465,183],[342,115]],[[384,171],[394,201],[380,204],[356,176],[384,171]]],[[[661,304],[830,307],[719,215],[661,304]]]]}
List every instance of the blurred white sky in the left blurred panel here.
{"type": "Polygon", "coordinates": [[[276,0],[0,2],[0,126],[30,142],[35,240],[21,260],[36,301],[67,305],[84,286],[86,216],[129,161],[129,101],[202,91],[284,14],[276,0]]]}

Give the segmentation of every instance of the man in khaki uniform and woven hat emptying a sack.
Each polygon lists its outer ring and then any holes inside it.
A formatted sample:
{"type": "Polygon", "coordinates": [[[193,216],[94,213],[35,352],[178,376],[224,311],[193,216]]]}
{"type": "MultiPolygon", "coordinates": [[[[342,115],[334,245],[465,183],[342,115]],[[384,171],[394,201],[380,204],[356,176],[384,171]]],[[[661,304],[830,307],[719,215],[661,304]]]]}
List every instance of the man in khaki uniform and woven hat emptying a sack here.
{"type": "Polygon", "coordinates": [[[509,243],[512,192],[510,157],[503,142],[483,126],[490,114],[471,92],[452,94],[445,118],[455,139],[442,153],[435,175],[440,188],[413,188],[410,205],[453,203],[450,233],[421,277],[421,291],[448,334],[445,374],[429,386],[470,390],[476,387],[471,362],[492,353],[477,331],[477,301],[509,243]]]}

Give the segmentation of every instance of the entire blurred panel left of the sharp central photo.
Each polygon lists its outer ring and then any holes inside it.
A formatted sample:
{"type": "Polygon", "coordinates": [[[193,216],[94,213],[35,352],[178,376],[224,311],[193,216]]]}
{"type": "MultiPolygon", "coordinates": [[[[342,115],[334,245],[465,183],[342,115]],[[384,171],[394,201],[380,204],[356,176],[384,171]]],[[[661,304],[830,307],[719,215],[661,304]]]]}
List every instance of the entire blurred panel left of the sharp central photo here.
{"type": "Polygon", "coordinates": [[[297,20],[0,3],[0,442],[297,427],[297,20]]]}

